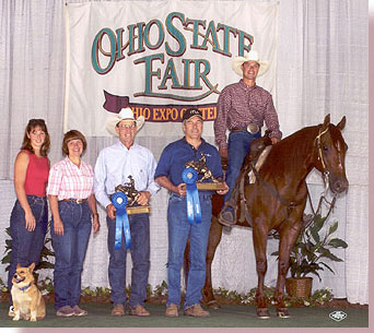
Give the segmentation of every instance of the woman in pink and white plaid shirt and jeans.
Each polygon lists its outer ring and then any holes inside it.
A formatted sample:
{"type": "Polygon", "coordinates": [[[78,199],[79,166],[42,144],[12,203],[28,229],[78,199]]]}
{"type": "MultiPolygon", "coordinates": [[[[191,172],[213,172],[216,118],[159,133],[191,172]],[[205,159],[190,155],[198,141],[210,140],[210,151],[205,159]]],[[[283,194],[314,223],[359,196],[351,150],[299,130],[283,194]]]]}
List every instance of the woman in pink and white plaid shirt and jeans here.
{"type": "Polygon", "coordinates": [[[65,134],[62,153],[67,157],[49,171],[47,194],[52,214],[51,239],[55,250],[55,308],[60,317],[85,316],[78,304],[81,274],[91,234],[100,228],[93,193],[93,168],[82,160],[84,135],[72,130],[65,134]]]}

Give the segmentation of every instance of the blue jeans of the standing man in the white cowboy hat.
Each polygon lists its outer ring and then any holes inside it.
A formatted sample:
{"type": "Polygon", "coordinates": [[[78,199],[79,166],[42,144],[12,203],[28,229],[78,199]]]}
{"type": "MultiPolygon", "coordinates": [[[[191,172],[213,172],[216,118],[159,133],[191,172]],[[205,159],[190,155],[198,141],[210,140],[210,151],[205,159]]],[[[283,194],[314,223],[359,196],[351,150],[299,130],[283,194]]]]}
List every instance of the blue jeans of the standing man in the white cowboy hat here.
{"type": "MultiPolygon", "coordinates": [[[[128,215],[131,234],[131,292],[129,305],[131,308],[144,305],[147,299],[147,284],[150,272],[150,218],[149,214],[128,215]]],[[[120,249],[115,250],[116,219],[106,217],[108,226],[110,299],[114,305],[126,306],[126,243],[122,230],[120,249]]]]}

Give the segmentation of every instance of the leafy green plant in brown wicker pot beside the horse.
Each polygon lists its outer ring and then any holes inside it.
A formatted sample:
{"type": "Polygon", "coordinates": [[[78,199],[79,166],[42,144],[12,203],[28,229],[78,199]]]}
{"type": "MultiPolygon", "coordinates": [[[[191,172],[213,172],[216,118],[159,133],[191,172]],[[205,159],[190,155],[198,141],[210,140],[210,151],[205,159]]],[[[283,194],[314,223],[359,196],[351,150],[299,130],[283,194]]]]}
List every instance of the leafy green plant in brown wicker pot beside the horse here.
{"type": "MultiPolygon", "coordinates": [[[[325,259],[335,262],[342,261],[330,250],[344,249],[348,245],[342,239],[334,237],[338,229],[337,221],[332,221],[324,228],[327,217],[328,215],[304,214],[303,227],[290,254],[291,277],[285,280],[285,290],[290,296],[309,297],[313,278],[307,275],[314,274],[322,281],[319,271],[327,269],[335,274],[334,270],[324,261],[325,259]]],[[[279,252],[276,251],[271,254],[278,255],[279,252]]]]}

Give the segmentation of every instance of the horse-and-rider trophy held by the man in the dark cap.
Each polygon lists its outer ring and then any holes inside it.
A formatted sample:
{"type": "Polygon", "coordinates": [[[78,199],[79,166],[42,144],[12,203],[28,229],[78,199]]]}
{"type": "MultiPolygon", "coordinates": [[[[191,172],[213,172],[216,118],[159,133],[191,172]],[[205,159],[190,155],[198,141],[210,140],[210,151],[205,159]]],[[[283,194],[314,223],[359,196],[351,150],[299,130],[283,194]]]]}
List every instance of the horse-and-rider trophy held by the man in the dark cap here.
{"type": "Polygon", "coordinates": [[[196,185],[198,190],[202,191],[218,191],[224,190],[225,186],[214,178],[212,171],[207,167],[207,157],[201,152],[201,157],[198,160],[189,160],[185,164],[186,168],[192,168],[198,175],[202,175],[196,185]],[[212,182],[203,182],[207,179],[211,179],[212,182]]]}

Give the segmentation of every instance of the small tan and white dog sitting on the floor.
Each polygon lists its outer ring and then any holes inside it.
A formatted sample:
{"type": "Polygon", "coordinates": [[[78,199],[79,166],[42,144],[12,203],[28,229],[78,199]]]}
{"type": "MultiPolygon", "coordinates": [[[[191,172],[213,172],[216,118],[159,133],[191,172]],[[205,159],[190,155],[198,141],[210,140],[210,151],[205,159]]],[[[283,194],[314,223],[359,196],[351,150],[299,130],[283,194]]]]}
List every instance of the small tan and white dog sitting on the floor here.
{"type": "Polygon", "coordinates": [[[46,304],[42,293],[35,285],[34,267],[34,262],[28,267],[21,267],[20,264],[16,265],[11,290],[14,321],[19,321],[20,318],[36,321],[36,319],[40,320],[46,317],[46,304]]]}

